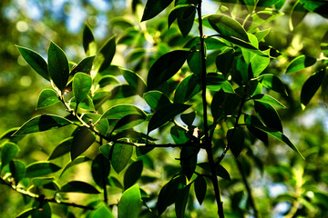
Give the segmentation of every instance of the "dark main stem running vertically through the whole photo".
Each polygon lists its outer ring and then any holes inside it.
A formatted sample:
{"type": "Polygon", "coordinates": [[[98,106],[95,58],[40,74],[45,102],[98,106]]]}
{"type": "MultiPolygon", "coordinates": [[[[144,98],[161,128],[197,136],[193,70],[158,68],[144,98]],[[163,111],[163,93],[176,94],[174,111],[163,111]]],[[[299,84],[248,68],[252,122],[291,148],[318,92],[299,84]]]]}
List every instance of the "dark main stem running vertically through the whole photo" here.
{"type": "Polygon", "coordinates": [[[206,153],[208,154],[208,159],[210,163],[210,180],[213,184],[215,199],[218,206],[218,214],[220,218],[224,218],[223,213],[223,203],[220,199],[220,188],[218,183],[218,177],[216,175],[216,165],[213,159],[213,152],[209,136],[209,124],[208,124],[208,114],[207,114],[207,101],[206,101],[206,54],[205,54],[205,42],[204,34],[202,28],[201,19],[201,0],[199,0],[199,5],[197,6],[197,12],[199,17],[199,31],[200,31],[200,54],[201,54],[201,98],[203,106],[203,122],[204,122],[204,144],[206,153]]]}

